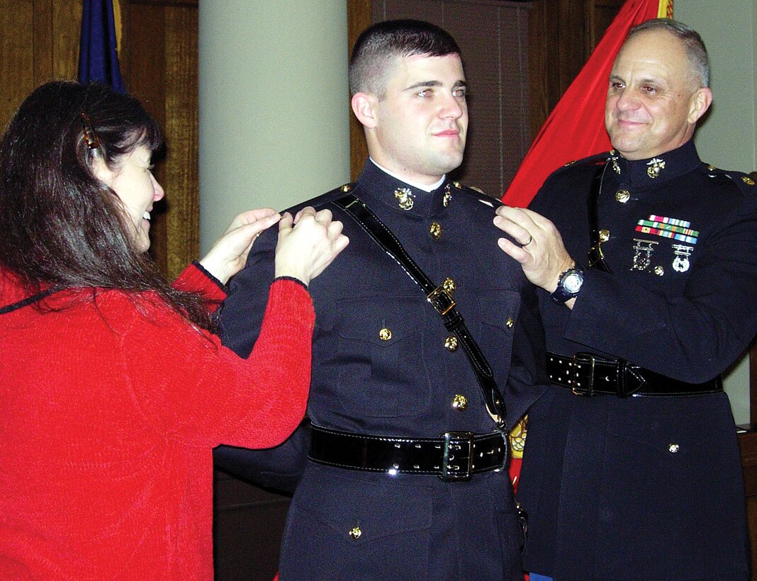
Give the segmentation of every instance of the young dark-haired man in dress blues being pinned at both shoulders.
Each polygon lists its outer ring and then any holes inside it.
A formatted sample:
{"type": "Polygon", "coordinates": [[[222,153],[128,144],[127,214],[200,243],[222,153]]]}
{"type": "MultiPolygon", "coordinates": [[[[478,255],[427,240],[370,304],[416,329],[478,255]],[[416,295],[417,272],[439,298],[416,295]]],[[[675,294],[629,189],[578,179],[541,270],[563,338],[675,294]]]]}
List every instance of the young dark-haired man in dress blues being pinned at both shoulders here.
{"type": "MultiPolygon", "coordinates": [[[[428,23],[378,23],[356,43],[350,92],[370,159],[357,183],[306,203],[331,209],[350,245],[330,276],[310,285],[312,443],[281,579],[522,579],[503,430],[539,395],[534,384],[546,384],[544,331],[534,287],[497,248],[499,204],[447,178],[463,160],[468,129],[459,48],[428,23]],[[463,339],[332,204],[347,193],[432,281],[444,281],[491,364],[504,422],[488,412],[463,339]]],[[[226,300],[223,337],[237,353],[257,337],[275,244],[261,235],[226,300]]],[[[276,483],[269,473],[288,470],[282,456],[291,449],[308,452],[295,437],[268,452],[222,450],[217,461],[276,483]]]]}

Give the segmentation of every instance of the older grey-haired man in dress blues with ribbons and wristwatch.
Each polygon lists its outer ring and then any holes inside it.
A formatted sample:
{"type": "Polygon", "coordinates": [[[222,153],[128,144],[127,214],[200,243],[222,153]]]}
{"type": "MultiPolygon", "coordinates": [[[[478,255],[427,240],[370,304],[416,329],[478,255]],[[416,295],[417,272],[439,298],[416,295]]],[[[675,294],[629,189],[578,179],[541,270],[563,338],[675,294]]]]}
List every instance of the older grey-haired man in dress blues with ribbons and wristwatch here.
{"type": "Polygon", "coordinates": [[[497,210],[541,289],[553,382],[518,489],[532,581],[748,577],[719,376],[757,332],[757,188],[699,160],[708,82],[696,32],[637,26],[609,78],[612,151],[554,172],[530,210],[497,210]]]}

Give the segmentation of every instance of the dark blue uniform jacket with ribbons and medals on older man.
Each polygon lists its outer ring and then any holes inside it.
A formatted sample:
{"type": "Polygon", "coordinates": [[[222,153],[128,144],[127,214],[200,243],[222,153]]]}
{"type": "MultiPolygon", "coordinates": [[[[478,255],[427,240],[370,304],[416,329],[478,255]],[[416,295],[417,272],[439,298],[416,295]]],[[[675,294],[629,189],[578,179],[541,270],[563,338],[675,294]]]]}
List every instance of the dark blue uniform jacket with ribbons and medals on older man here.
{"type": "MultiPolygon", "coordinates": [[[[708,381],[757,331],[757,188],[706,166],[691,141],[652,160],[612,157],[598,219],[612,274],[585,269],[572,311],[540,291],[547,349],[708,381]]],[[[531,204],[584,268],[590,182],[606,159],[559,169],[531,204]]],[[[589,398],[550,387],[529,412],[519,500],[530,517],[525,566],[536,573],[746,579],[725,393],[589,398]]]]}

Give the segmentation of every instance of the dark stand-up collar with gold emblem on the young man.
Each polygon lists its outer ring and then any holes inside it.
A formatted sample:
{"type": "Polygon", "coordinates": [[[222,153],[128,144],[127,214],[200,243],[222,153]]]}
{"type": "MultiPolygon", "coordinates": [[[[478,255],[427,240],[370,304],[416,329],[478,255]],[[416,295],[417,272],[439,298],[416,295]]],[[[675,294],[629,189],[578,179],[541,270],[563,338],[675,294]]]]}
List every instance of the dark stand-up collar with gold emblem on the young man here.
{"type": "Polygon", "coordinates": [[[430,216],[444,207],[445,178],[434,191],[423,191],[389,175],[371,160],[366,161],[357,179],[360,196],[372,197],[397,212],[415,216],[430,216]]]}

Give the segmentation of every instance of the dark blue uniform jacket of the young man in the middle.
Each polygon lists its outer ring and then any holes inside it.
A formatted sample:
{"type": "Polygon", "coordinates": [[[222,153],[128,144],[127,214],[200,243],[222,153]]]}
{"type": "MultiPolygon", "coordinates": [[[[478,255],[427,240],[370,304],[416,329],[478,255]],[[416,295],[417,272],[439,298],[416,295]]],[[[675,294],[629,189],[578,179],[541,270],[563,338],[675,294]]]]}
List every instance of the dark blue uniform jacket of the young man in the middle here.
{"type": "MultiPolygon", "coordinates": [[[[494,369],[512,425],[541,393],[534,384],[544,383],[544,335],[533,287],[497,247],[501,232],[492,219],[499,202],[452,182],[419,191],[371,162],[352,193],[433,281],[453,279],[459,312],[494,369]],[[413,207],[400,208],[400,197],[412,199],[413,207]],[[438,238],[431,235],[433,223],[441,227],[438,238]]],[[[400,266],[349,216],[329,206],[342,195],[337,190],[307,202],[330,207],[350,238],[310,285],[316,307],[308,403],[313,424],[405,437],[493,431],[465,353],[445,348],[449,333],[441,317],[400,266]],[[391,338],[382,330],[391,331],[391,338]],[[466,397],[465,409],[453,408],[456,395],[466,397]]],[[[275,245],[275,232],[255,243],[223,308],[223,338],[242,355],[257,337],[275,245]]],[[[266,452],[224,449],[217,462],[276,485],[282,483],[277,473],[297,472],[282,458],[292,449],[302,458],[297,436],[266,452]]],[[[450,483],[307,462],[291,502],[280,570],[282,581],[522,579],[507,472],[450,483]],[[354,527],[361,531],[357,539],[350,536],[354,527]]]]}

